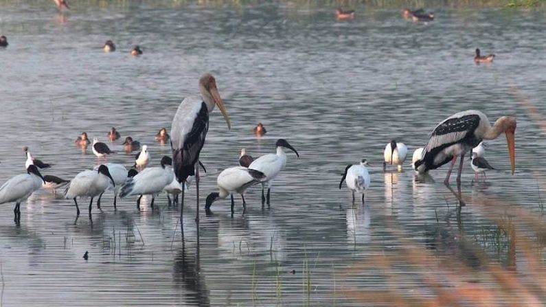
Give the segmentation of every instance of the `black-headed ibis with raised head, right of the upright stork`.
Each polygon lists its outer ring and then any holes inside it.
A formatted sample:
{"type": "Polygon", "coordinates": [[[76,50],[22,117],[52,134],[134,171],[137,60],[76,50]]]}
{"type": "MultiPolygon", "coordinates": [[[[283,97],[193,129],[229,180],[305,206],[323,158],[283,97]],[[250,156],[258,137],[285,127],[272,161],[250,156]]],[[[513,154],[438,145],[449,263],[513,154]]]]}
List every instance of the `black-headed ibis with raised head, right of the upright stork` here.
{"type": "Polygon", "coordinates": [[[292,150],[299,158],[297,151],[288,144],[286,139],[277,139],[275,147],[277,148],[276,154],[263,155],[262,157],[255,159],[249,166],[250,169],[259,170],[266,176],[266,180],[262,181],[262,205],[266,201],[264,196],[265,185],[267,184],[267,204],[269,205],[269,194],[271,192],[271,186],[273,185],[273,179],[275,179],[284,166],[286,166],[286,153],[284,153],[282,148],[284,147],[292,150]]]}

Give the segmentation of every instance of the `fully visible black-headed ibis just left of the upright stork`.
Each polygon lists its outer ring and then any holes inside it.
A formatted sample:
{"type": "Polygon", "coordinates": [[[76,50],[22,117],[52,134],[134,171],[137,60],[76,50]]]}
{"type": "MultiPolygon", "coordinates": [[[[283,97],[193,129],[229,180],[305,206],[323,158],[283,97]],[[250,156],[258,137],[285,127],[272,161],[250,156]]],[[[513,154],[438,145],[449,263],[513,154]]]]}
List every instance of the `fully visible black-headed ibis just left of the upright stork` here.
{"type": "Polygon", "coordinates": [[[120,198],[130,195],[140,195],[137,198],[137,208],[140,211],[140,198],[143,195],[152,195],[150,207],[154,207],[154,201],[163,189],[174,180],[174,172],[169,166],[170,157],[161,158],[161,167],[145,168],[135,177],[128,179],[123,185],[120,198]]]}

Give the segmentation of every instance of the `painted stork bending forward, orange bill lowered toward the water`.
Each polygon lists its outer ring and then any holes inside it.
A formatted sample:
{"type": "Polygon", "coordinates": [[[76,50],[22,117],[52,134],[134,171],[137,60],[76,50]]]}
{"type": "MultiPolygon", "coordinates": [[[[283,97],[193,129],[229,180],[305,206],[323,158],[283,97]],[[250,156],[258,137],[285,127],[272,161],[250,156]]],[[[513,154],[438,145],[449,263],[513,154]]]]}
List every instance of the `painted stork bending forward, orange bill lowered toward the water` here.
{"type": "Polygon", "coordinates": [[[506,135],[511,170],[512,174],[514,174],[516,169],[516,118],[503,116],[491,126],[487,116],[476,110],[455,113],[438,124],[434,128],[429,142],[424,147],[420,161],[415,163],[416,169],[420,174],[423,174],[429,170],[440,168],[440,166],[451,161],[451,167],[444,180],[447,185],[455,161],[457,161],[457,157],[461,156],[459,174],[457,174],[457,185],[460,185],[466,152],[484,139],[497,139],[501,133],[506,135]]]}

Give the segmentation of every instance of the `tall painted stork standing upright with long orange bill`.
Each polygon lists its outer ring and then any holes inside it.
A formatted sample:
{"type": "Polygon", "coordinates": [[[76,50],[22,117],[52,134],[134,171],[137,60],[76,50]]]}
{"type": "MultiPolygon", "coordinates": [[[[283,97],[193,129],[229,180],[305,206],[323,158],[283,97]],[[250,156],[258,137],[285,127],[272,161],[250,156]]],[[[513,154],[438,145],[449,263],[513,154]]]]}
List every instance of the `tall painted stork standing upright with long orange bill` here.
{"type": "MultiPolygon", "coordinates": [[[[209,113],[218,106],[220,113],[231,130],[231,122],[224,106],[220,93],[216,88],[216,80],[210,73],[205,73],[198,82],[201,98],[184,98],[174,115],[171,124],[170,137],[174,174],[179,183],[184,186],[187,177],[195,176],[197,198],[196,220],[199,220],[199,154],[205,144],[205,137],[209,130],[209,113]]],[[[180,220],[182,222],[184,206],[184,189],[181,193],[182,207],[180,220]]]]}

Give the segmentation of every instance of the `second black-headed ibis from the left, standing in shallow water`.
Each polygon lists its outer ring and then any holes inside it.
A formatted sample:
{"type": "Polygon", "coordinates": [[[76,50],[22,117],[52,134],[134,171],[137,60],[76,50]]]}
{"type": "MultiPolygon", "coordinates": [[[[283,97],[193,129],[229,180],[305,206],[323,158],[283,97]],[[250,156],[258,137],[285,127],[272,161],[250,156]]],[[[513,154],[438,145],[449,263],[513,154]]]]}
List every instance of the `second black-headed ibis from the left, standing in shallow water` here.
{"type": "Polygon", "coordinates": [[[76,197],[91,197],[89,202],[89,218],[91,218],[91,209],[93,209],[93,198],[102,194],[112,183],[115,187],[114,179],[108,170],[108,167],[101,165],[98,170],[84,170],[70,181],[70,185],[65,190],[65,198],[73,199],[76,204],[77,216],[80,216],[80,207],[76,197]]]}

